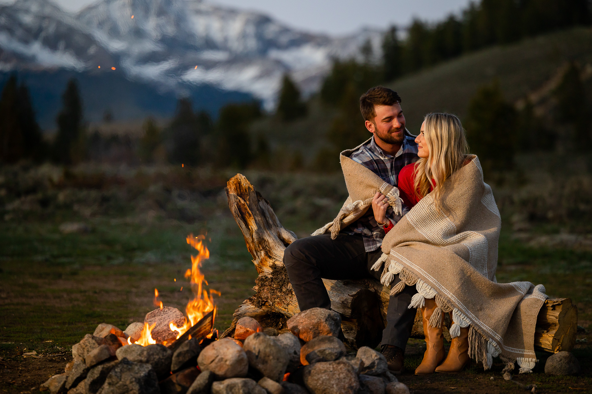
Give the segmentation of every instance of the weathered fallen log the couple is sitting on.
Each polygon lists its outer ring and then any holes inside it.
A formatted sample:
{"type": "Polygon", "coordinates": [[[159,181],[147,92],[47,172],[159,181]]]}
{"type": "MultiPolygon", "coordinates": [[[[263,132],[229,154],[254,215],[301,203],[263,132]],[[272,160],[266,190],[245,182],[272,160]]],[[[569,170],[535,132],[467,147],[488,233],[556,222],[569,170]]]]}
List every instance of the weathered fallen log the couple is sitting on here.
{"type": "MultiPolygon", "coordinates": [[[[234,311],[233,323],[221,337],[232,336],[236,322],[245,316],[255,318],[264,328],[285,332],[288,330],[286,321],[300,312],[282,262],[284,249],[297,236],[282,227],[269,202],[243,175],[237,174],[228,181],[226,196],[259,276],[253,288],[255,295],[234,311]]],[[[353,349],[378,346],[385,326],[390,289],[374,278],[323,279],[323,282],[329,292],[331,309],[342,317],[346,345],[353,349]]],[[[413,338],[424,338],[421,319],[418,310],[411,331],[413,338]]],[[[446,317],[444,336],[448,340],[450,324],[446,317]]],[[[550,353],[569,351],[574,346],[576,331],[577,308],[571,300],[548,299],[538,315],[535,347],[550,353]]]]}

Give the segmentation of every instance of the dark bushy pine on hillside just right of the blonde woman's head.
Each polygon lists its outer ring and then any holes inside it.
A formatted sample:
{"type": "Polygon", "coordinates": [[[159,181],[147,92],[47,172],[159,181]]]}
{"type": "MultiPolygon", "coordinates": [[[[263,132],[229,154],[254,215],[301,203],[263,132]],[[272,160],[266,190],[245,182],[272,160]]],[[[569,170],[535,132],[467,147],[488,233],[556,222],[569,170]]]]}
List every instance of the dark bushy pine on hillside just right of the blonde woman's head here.
{"type": "Polygon", "coordinates": [[[517,116],[504,100],[497,82],[482,86],[469,102],[465,121],[466,138],[487,174],[512,167],[517,116]]]}

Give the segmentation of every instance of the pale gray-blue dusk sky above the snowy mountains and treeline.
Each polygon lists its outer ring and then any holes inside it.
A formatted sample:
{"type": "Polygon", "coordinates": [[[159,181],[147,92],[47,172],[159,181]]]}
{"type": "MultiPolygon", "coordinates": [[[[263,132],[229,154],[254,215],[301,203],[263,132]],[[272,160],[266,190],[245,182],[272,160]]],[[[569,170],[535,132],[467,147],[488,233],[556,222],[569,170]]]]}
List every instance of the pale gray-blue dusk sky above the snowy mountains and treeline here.
{"type": "MultiPolygon", "coordinates": [[[[10,3],[14,0],[0,0],[10,3]]],[[[76,12],[96,0],[53,0],[76,12]]],[[[361,27],[401,27],[414,17],[430,21],[458,12],[469,0],[216,0],[215,4],[252,9],[271,15],[295,28],[311,32],[343,34],[361,27]]]]}

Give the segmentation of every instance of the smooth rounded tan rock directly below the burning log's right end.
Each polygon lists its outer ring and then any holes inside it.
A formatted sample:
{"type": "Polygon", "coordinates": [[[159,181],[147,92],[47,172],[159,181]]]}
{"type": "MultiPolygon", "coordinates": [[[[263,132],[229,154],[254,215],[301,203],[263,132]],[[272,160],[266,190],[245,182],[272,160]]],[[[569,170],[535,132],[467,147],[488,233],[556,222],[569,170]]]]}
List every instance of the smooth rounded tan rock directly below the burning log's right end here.
{"type": "Polygon", "coordinates": [[[202,371],[211,371],[217,379],[245,377],[249,370],[249,360],[242,347],[231,338],[223,338],[206,346],[197,357],[202,371]]]}

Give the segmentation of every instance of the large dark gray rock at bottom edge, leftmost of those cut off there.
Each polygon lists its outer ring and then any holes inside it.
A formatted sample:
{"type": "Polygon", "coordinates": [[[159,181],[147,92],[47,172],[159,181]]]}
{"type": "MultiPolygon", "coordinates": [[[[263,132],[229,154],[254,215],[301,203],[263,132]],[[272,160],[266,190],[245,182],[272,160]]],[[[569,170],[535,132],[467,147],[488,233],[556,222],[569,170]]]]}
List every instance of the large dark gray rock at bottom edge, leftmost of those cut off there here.
{"type": "Polygon", "coordinates": [[[160,390],[150,364],[122,359],[107,375],[97,394],[160,394],[160,390]]]}

